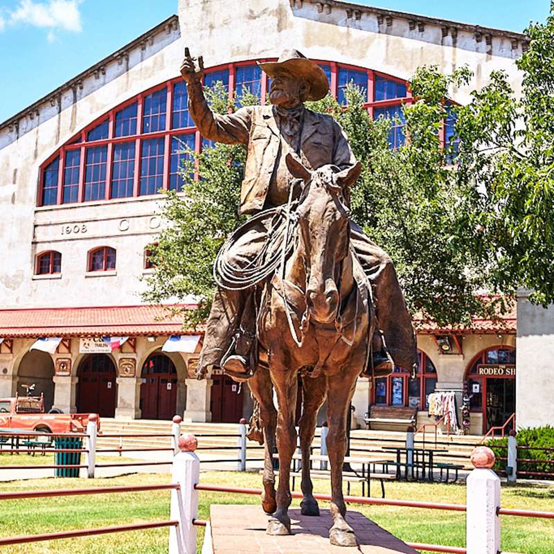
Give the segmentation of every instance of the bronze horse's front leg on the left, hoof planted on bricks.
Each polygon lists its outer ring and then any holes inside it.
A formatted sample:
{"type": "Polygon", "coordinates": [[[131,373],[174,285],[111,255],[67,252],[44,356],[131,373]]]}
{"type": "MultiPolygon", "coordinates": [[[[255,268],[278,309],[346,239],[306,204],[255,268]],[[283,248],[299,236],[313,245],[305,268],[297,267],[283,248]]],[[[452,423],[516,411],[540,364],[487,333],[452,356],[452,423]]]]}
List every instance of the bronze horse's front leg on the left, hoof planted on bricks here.
{"type": "Polygon", "coordinates": [[[279,485],[277,488],[277,510],[267,524],[268,535],[290,535],[288,509],[292,500],[290,494],[290,463],[296,449],[296,371],[271,369],[271,382],[277,393],[277,449],[279,452],[279,485]]]}

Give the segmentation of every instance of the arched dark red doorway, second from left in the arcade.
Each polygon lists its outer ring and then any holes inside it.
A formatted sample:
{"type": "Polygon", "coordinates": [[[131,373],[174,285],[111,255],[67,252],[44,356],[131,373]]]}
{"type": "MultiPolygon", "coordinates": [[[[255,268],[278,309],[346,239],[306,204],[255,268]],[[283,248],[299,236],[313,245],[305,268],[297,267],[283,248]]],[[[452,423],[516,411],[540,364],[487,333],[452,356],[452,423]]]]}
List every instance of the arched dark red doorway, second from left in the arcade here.
{"type": "Polygon", "coordinates": [[[116,414],[116,366],[105,354],[89,354],[77,372],[77,411],[98,413],[103,418],[116,414]]]}

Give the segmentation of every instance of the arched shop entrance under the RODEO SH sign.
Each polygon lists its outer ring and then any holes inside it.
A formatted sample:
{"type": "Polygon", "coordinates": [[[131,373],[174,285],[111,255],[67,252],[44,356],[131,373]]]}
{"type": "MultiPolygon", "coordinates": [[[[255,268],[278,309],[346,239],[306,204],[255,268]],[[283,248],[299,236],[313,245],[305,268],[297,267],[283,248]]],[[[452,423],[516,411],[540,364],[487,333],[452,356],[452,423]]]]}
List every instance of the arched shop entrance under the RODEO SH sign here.
{"type": "Polygon", "coordinates": [[[479,352],[468,366],[466,380],[470,412],[483,413],[483,433],[503,425],[515,412],[515,348],[512,346],[493,346],[479,352]]]}

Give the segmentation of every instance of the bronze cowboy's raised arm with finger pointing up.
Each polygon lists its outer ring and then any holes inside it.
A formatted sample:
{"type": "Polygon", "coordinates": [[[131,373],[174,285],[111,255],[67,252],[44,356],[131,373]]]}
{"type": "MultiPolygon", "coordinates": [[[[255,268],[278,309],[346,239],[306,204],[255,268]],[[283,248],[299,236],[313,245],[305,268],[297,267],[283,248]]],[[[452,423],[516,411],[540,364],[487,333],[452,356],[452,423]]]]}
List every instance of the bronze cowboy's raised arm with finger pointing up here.
{"type": "Polygon", "coordinates": [[[215,114],[208,106],[202,89],[202,56],[198,57],[199,69],[196,68],[195,60],[195,57],[190,56],[188,48],[185,48],[181,75],[187,84],[188,110],[200,134],[205,139],[219,143],[248,144],[251,107],[241,108],[234,114],[215,114]]]}

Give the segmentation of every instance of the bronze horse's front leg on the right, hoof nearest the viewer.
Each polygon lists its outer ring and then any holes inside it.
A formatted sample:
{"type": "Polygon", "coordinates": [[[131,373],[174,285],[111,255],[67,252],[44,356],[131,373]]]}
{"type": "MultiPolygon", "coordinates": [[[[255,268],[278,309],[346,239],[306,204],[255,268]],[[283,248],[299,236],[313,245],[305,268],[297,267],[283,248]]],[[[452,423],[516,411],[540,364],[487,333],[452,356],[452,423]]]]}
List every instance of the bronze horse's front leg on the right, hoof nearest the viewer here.
{"type": "Polygon", "coordinates": [[[331,515],[334,521],[329,530],[331,544],[356,546],[352,528],[346,523],[346,504],[342,494],[342,466],[346,452],[346,418],[356,386],[357,373],[341,372],[329,379],[327,421],[329,425],[328,455],[331,465],[331,515]]]}

